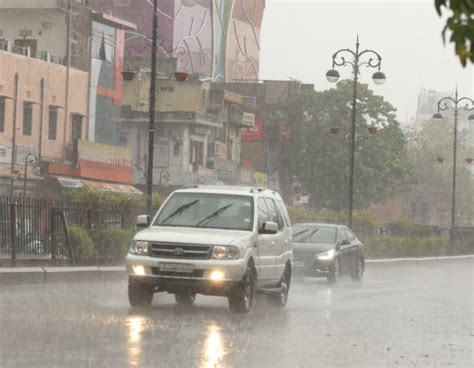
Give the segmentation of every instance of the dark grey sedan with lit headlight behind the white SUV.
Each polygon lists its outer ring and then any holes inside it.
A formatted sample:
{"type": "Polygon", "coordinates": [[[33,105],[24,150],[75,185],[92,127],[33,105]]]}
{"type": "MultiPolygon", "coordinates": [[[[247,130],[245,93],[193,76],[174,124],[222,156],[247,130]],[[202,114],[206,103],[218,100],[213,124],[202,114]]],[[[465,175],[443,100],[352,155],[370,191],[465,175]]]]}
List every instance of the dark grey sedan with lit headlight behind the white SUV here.
{"type": "Polygon", "coordinates": [[[293,226],[293,268],[296,275],[326,277],[336,283],[341,276],[361,281],[364,249],[351,229],[334,224],[293,226]]]}

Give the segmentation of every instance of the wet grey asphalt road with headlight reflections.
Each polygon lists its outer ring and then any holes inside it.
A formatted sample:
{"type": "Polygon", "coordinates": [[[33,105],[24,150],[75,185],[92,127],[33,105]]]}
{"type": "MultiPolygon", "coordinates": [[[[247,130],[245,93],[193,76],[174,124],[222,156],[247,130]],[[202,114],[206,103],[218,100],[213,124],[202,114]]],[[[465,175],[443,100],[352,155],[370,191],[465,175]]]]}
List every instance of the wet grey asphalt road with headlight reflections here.
{"type": "Polygon", "coordinates": [[[472,367],[473,259],[369,265],[362,285],[294,282],[286,309],[250,315],[126,281],[0,286],[0,367],[472,367]]]}

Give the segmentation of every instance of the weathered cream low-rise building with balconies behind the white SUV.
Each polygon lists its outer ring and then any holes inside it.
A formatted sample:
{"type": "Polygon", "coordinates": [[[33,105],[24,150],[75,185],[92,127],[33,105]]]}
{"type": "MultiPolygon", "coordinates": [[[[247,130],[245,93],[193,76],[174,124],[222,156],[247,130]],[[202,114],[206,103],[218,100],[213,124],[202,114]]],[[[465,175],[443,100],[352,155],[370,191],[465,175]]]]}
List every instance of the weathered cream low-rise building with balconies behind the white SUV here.
{"type": "MultiPolygon", "coordinates": [[[[133,150],[134,182],[146,183],[149,73],[125,83],[121,144],[133,150]]],[[[254,125],[245,96],[210,80],[157,80],[154,184],[240,183],[241,130],[254,125]],[[166,173],[166,179],[164,178],[166,173]]]]}

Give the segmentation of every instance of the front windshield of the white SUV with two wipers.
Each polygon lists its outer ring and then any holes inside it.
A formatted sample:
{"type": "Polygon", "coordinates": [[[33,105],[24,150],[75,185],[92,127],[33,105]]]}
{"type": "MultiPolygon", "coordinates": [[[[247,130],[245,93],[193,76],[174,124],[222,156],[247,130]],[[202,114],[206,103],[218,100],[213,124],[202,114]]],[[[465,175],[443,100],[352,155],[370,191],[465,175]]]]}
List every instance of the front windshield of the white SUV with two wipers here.
{"type": "Polygon", "coordinates": [[[175,193],[153,226],[252,230],[250,196],[214,193],[175,193]]]}

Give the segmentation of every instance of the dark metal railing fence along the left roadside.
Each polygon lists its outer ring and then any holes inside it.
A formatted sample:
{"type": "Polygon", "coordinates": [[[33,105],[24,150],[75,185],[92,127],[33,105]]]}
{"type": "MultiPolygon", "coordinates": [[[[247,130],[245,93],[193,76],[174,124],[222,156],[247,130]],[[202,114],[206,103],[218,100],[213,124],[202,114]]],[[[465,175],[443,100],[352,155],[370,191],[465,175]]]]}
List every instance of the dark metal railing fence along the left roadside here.
{"type": "Polygon", "coordinates": [[[0,257],[61,259],[70,257],[66,229],[130,229],[131,214],[118,207],[90,207],[70,201],[0,196],[0,257]]]}

